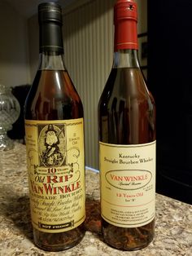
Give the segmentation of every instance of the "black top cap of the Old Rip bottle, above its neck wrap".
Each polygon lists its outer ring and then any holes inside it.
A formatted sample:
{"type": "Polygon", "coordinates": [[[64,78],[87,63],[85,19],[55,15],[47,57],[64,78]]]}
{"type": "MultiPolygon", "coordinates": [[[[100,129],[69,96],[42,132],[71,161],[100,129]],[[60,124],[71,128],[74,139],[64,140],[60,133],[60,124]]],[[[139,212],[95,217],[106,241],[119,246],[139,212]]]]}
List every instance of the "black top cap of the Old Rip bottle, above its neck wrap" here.
{"type": "Polygon", "coordinates": [[[62,24],[62,8],[56,2],[43,2],[38,5],[39,23],[54,21],[62,24]]]}

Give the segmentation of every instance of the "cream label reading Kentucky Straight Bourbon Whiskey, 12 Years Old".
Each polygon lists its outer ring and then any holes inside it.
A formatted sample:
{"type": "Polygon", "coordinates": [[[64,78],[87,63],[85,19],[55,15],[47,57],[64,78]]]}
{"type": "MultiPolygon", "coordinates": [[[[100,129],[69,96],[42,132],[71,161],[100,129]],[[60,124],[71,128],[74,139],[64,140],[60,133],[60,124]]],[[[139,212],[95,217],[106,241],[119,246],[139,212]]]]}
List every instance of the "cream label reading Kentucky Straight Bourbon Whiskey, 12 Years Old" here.
{"type": "Polygon", "coordinates": [[[155,141],[99,143],[101,214],[117,227],[141,227],[155,218],[155,141]]]}

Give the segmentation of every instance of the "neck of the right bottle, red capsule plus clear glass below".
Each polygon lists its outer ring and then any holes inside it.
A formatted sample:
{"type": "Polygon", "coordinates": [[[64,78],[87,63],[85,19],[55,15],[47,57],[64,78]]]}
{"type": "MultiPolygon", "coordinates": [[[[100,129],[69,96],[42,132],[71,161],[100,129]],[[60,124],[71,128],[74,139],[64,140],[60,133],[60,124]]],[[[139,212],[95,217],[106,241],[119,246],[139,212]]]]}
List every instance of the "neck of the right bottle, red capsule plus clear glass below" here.
{"type": "Polygon", "coordinates": [[[114,8],[114,68],[139,68],[137,59],[137,4],[117,1],[114,8]]]}

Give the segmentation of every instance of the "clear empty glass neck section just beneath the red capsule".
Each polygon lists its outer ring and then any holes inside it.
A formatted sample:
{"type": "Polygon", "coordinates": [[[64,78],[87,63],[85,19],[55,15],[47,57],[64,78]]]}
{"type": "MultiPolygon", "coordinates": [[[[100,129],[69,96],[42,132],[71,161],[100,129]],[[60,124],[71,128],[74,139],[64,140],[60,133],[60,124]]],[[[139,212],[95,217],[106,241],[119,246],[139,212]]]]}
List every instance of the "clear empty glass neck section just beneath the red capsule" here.
{"type": "Polygon", "coordinates": [[[139,68],[137,50],[121,49],[114,52],[113,68],[139,68]]]}

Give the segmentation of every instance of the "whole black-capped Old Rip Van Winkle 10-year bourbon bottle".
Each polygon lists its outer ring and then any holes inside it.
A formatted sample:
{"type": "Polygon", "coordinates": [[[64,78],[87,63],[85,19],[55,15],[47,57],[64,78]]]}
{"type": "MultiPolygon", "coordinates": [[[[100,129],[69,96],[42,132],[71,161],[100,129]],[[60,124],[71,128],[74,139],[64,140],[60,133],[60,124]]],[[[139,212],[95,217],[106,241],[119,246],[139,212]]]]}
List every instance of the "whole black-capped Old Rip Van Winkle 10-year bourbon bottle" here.
{"type": "Polygon", "coordinates": [[[62,9],[38,6],[40,64],[25,103],[34,243],[59,251],[85,235],[84,119],[63,64],[62,9]]]}

